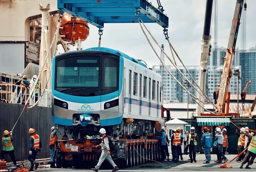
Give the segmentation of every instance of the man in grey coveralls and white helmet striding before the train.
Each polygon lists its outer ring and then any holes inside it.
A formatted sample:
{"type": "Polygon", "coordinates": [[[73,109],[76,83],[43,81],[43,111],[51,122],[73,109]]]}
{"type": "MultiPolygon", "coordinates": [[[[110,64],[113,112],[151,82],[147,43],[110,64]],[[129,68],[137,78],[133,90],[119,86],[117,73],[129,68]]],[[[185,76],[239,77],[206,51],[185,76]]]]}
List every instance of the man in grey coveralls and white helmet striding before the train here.
{"type": "Polygon", "coordinates": [[[108,138],[106,135],[106,130],[101,128],[99,132],[101,133],[102,141],[101,141],[101,144],[96,146],[96,148],[101,146],[102,152],[101,152],[101,157],[99,158],[99,162],[97,166],[95,166],[95,168],[92,168],[92,170],[95,172],[98,172],[99,168],[101,167],[101,164],[107,158],[107,161],[110,162],[110,164],[114,167],[112,171],[117,171],[119,170],[119,168],[116,166],[116,164],[114,163],[114,161],[110,156],[110,148],[109,148],[108,138]]]}

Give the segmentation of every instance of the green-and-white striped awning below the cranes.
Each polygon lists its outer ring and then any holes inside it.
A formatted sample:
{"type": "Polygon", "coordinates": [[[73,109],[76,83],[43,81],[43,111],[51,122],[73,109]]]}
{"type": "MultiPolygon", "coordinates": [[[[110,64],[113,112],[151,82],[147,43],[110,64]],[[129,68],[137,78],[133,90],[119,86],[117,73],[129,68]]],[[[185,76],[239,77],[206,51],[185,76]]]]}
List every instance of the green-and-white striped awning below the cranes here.
{"type": "Polygon", "coordinates": [[[198,126],[229,126],[230,121],[227,118],[196,118],[198,126]]]}

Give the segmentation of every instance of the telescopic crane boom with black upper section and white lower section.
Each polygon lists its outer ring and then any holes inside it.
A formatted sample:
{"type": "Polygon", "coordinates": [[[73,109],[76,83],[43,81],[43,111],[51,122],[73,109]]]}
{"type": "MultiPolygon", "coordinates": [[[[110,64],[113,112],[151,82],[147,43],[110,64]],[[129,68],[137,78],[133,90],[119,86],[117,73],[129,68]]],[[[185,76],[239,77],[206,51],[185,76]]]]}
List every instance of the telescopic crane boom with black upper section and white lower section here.
{"type": "MultiPolygon", "coordinates": [[[[207,62],[208,57],[210,56],[210,22],[212,18],[212,3],[213,0],[207,0],[206,2],[206,9],[205,9],[205,17],[204,17],[204,33],[202,37],[202,48],[201,48],[201,61],[200,61],[200,69],[199,69],[199,81],[198,85],[199,87],[205,92],[205,86],[206,86],[206,73],[207,73],[207,62]]],[[[198,92],[203,95],[202,91],[199,90],[198,92]]],[[[198,94],[198,99],[200,101],[204,101],[203,96],[198,94]]],[[[200,116],[201,113],[204,112],[204,104],[202,102],[198,101],[198,104],[196,104],[196,115],[200,116]],[[201,106],[202,107],[201,107],[201,106]]]]}

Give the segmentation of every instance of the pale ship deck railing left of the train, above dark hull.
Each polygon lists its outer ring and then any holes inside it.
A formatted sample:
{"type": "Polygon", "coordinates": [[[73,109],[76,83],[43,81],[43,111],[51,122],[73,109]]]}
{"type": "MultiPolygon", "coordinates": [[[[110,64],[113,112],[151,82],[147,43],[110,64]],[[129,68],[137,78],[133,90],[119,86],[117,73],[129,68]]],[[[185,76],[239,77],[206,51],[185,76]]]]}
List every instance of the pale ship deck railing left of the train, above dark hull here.
{"type": "MultiPolygon", "coordinates": [[[[21,85],[15,84],[0,84],[0,102],[4,103],[12,103],[12,104],[25,104],[28,100],[28,106],[32,106],[36,103],[36,92],[38,92],[37,98],[42,95],[43,90],[35,88],[33,93],[30,96],[33,87],[27,88],[21,85]],[[22,90],[22,88],[24,90],[22,90]],[[20,98],[20,102],[18,103],[18,99],[20,98]]],[[[38,102],[37,106],[42,107],[51,107],[51,90],[45,90],[42,98],[38,102]]]]}

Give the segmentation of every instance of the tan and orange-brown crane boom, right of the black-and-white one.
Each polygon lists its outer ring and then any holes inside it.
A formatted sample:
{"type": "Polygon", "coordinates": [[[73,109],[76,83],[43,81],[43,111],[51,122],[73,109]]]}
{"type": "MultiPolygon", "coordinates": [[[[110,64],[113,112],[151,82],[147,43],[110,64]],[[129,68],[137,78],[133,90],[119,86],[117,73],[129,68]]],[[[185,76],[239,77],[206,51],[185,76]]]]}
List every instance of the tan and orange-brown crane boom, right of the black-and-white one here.
{"type": "Polygon", "coordinates": [[[228,48],[226,51],[223,72],[221,74],[221,83],[220,83],[220,89],[218,90],[217,109],[215,110],[215,113],[217,113],[218,110],[221,113],[225,113],[228,88],[229,88],[230,78],[232,76],[232,64],[233,64],[232,57],[233,57],[233,54],[235,53],[236,40],[237,40],[237,34],[239,30],[239,25],[240,25],[242,9],[243,9],[243,0],[237,0],[234,17],[232,20],[231,31],[229,35],[228,48]]]}

